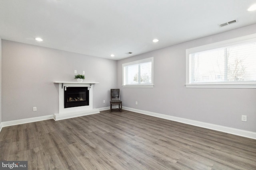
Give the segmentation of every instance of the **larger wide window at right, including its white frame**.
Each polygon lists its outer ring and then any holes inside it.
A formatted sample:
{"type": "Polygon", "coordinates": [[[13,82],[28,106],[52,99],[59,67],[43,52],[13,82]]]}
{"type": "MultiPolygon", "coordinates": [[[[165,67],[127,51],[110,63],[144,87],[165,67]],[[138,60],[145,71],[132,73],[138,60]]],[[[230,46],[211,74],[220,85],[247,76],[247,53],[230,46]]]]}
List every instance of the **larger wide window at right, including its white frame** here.
{"type": "Polygon", "coordinates": [[[256,88],[256,34],[187,49],[186,87],[256,88]]]}

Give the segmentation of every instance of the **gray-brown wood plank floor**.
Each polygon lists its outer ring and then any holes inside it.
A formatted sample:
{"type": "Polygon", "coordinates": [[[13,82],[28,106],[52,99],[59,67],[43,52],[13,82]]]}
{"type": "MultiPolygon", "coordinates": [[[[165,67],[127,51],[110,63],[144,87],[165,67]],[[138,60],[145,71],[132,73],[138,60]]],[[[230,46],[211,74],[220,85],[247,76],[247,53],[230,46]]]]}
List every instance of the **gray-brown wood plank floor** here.
{"type": "Polygon", "coordinates": [[[0,160],[29,170],[256,170],[256,140],[131,111],[3,127],[0,160]]]}

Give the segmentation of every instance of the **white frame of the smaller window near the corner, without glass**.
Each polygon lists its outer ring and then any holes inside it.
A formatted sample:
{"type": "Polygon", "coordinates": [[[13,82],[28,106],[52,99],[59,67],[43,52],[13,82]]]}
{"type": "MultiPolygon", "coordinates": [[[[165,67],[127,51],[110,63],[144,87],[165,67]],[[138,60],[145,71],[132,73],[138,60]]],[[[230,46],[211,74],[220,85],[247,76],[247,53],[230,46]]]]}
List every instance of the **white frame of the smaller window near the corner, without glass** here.
{"type": "Polygon", "coordinates": [[[124,88],[153,88],[154,87],[154,57],[132,61],[129,63],[122,64],[122,87],[124,88]],[[134,64],[142,64],[151,62],[151,84],[126,84],[125,67],[132,66],[134,64]]]}

